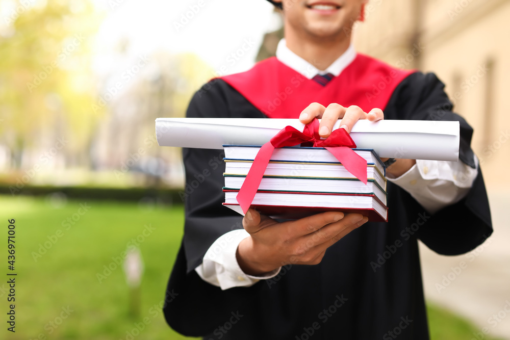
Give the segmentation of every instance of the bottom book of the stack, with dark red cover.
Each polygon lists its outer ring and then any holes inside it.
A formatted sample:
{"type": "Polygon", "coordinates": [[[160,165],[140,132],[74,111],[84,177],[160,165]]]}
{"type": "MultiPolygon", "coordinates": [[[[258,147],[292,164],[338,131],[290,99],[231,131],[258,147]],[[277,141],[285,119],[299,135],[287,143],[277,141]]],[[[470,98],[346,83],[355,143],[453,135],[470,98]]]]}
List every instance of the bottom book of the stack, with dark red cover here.
{"type": "MultiPolygon", "coordinates": [[[[224,206],[244,215],[237,203],[237,190],[224,190],[224,206]]],[[[375,195],[345,195],[324,193],[260,192],[251,207],[275,219],[299,219],[310,215],[340,211],[359,213],[370,221],[388,222],[388,208],[375,195]]]]}

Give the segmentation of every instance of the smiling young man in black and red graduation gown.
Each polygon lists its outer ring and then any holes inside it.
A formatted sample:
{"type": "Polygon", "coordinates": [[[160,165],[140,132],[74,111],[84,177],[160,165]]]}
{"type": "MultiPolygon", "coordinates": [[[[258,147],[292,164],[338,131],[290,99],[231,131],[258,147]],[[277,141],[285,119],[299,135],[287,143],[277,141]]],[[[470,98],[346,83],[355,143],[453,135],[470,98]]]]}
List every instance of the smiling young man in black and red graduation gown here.
{"type": "Polygon", "coordinates": [[[206,84],[188,117],[319,117],[323,137],[338,119],[347,132],[359,119],[458,120],[460,161],[388,160],[389,223],[342,212],[279,223],[222,207],[223,154],[185,149],[187,180],[211,175],[185,202],[164,307],[175,330],[206,339],[427,339],[417,240],[461,254],[491,234],[472,129],[451,112],[444,85],[351,46],[366,1],[283,0],[276,58],[206,84]]]}

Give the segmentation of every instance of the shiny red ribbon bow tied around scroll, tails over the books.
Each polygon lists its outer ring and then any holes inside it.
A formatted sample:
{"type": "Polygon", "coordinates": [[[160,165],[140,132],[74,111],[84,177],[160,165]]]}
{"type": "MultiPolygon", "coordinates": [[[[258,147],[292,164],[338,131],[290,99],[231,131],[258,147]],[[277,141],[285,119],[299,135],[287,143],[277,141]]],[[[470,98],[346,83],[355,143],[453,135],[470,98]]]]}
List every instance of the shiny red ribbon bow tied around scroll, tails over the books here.
{"type": "Polygon", "coordinates": [[[303,132],[299,132],[299,130],[292,126],[286,126],[276,136],[271,138],[269,142],[262,145],[237,194],[237,202],[245,214],[259,189],[260,181],[264,176],[274,148],[294,146],[303,142],[311,142],[314,147],[327,149],[342,163],[347,171],[364,184],[367,184],[367,161],[351,149],[355,148],[356,144],[347,131],[343,128],[338,128],[327,139],[320,139],[319,120],[314,119],[304,126],[303,132]]]}

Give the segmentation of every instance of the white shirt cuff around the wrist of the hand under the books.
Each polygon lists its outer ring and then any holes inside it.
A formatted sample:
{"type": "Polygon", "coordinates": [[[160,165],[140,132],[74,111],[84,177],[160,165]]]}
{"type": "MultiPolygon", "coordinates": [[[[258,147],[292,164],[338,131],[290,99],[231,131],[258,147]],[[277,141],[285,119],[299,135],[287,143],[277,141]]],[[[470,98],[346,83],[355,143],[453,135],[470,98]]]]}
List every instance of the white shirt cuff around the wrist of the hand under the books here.
{"type": "Polygon", "coordinates": [[[278,275],[281,267],[263,276],[245,274],[237,263],[237,247],[249,233],[244,229],[229,231],[220,236],[203,256],[202,263],[195,268],[202,280],[226,290],[232,287],[249,287],[263,279],[278,275]]]}

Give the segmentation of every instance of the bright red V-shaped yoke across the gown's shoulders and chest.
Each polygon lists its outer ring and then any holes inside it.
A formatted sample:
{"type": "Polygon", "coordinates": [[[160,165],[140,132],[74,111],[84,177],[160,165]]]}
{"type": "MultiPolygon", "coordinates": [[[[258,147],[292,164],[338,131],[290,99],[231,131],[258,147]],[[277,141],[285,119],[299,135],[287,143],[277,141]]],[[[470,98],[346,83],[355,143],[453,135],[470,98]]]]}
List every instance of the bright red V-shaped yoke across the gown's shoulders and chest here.
{"type": "Polygon", "coordinates": [[[415,71],[393,68],[360,55],[326,86],[307,79],[275,57],[222,79],[269,118],[298,118],[312,102],[384,110],[395,88],[415,71]]]}

